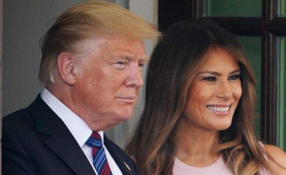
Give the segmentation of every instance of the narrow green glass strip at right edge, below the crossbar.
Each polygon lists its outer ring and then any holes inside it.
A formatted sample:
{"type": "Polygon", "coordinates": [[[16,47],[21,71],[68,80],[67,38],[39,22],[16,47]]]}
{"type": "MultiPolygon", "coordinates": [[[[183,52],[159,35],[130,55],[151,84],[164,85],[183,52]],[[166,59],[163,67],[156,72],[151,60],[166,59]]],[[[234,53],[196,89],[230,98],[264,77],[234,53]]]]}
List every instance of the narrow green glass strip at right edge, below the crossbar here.
{"type": "Polygon", "coordinates": [[[278,146],[286,151],[286,37],[277,40],[278,58],[278,146]]]}

